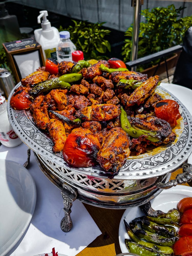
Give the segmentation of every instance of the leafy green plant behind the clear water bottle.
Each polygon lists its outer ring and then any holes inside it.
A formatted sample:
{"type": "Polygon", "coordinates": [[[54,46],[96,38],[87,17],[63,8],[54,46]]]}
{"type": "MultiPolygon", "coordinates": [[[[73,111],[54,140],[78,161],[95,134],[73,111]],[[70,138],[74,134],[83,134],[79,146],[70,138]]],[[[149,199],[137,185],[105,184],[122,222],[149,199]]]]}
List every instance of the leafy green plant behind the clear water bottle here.
{"type": "Polygon", "coordinates": [[[104,54],[111,51],[111,45],[105,36],[111,31],[102,27],[105,22],[92,24],[86,21],[72,21],[74,26],[70,25],[67,29],[60,26],[59,31],[70,32],[71,41],[76,45],[77,50],[83,51],[85,59],[106,59],[104,54]]]}

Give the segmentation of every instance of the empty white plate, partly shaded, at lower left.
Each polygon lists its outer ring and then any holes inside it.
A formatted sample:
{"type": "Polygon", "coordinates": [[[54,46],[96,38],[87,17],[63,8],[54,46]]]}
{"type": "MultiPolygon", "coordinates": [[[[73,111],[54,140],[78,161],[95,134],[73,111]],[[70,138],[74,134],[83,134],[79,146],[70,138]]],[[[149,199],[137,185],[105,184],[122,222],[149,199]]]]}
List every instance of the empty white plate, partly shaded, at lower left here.
{"type": "Polygon", "coordinates": [[[22,165],[0,159],[0,256],[18,242],[32,218],[35,183],[22,165]]]}

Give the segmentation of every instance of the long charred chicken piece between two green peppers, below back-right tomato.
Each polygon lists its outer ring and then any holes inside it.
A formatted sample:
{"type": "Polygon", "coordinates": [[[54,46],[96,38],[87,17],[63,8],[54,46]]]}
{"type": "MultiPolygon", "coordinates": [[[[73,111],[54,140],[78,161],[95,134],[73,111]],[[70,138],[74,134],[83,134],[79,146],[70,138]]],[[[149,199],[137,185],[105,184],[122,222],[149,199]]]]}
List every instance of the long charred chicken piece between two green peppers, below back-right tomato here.
{"type": "Polygon", "coordinates": [[[109,79],[111,79],[115,83],[118,83],[120,79],[133,79],[144,81],[147,79],[147,75],[134,71],[115,71],[110,74],[109,79]]]}

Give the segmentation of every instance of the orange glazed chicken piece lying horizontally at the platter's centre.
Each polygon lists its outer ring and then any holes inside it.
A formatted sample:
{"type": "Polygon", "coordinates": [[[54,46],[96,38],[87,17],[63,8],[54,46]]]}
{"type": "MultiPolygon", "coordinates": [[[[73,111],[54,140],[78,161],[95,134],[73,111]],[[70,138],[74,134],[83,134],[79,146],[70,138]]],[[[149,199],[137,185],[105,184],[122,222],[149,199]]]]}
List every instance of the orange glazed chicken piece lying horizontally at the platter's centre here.
{"type": "Polygon", "coordinates": [[[98,104],[76,112],[76,117],[85,121],[109,121],[120,115],[120,105],[98,104]]]}

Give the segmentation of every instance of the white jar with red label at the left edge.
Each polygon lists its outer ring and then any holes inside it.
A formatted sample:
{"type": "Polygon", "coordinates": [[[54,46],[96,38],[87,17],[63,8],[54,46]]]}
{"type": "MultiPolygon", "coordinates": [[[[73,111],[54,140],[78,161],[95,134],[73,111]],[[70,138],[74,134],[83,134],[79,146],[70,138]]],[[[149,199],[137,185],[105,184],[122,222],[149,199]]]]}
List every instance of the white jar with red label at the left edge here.
{"type": "Polygon", "coordinates": [[[8,115],[7,102],[0,94],[0,142],[6,147],[16,147],[22,143],[17,134],[13,131],[8,115]]]}

